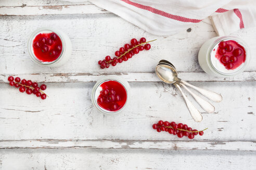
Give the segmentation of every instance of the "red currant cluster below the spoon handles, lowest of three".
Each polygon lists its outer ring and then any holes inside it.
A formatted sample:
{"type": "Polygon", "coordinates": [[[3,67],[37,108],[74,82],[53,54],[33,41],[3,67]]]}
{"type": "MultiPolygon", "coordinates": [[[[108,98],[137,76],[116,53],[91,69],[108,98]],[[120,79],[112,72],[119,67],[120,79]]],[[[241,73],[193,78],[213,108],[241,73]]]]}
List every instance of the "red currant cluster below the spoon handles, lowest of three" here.
{"type": "Polygon", "coordinates": [[[157,132],[165,131],[169,132],[170,134],[177,135],[180,138],[187,136],[189,139],[194,139],[197,134],[202,136],[203,131],[208,129],[197,131],[196,129],[193,130],[191,127],[188,127],[186,124],[176,124],[175,122],[170,123],[162,120],[159,120],[157,124],[153,124],[152,127],[153,129],[156,129],[157,132]]]}

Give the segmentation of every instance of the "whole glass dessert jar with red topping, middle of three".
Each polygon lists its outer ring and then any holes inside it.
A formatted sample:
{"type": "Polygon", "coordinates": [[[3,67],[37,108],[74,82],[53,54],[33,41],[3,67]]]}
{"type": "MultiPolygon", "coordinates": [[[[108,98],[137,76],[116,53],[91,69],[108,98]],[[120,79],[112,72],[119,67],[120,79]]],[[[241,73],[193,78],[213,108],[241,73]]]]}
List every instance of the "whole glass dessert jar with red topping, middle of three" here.
{"type": "Polygon", "coordinates": [[[105,76],[93,87],[92,103],[104,114],[118,114],[125,109],[129,101],[130,85],[119,76],[105,76]]]}

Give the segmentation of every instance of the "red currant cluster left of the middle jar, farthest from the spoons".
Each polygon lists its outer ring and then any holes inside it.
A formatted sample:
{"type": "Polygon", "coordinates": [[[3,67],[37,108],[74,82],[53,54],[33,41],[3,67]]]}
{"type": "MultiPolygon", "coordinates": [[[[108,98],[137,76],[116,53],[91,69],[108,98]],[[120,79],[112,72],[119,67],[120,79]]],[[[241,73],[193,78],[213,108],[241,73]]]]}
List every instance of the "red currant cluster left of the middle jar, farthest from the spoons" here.
{"type": "Polygon", "coordinates": [[[41,97],[43,100],[46,98],[46,94],[42,90],[46,89],[46,85],[42,84],[38,87],[37,82],[32,82],[31,80],[20,79],[19,77],[8,77],[10,86],[19,88],[21,93],[26,92],[27,94],[35,94],[37,97],[41,97]]]}

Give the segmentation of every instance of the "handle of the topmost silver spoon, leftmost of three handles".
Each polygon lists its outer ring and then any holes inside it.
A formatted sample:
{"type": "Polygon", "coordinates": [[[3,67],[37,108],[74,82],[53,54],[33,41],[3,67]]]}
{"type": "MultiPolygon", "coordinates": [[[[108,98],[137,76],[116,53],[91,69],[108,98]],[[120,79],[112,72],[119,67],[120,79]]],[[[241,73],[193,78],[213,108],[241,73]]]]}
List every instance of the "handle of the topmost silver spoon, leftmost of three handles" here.
{"type": "Polygon", "coordinates": [[[188,100],[188,98],[186,97],[186,95],[183,93],[180,85],[178,85],[177,83],[174,83],[174,85],[176,86],[176,88],[178,90],[180,90],[180,92],[182,93],[182,96],[186,102],[187,108],[190,112],[191,117],[196,121],[196,122],[201,122],[202,121],[202,115],[200,113],[200,111],[198,111],[198,109],[188,100]]]}

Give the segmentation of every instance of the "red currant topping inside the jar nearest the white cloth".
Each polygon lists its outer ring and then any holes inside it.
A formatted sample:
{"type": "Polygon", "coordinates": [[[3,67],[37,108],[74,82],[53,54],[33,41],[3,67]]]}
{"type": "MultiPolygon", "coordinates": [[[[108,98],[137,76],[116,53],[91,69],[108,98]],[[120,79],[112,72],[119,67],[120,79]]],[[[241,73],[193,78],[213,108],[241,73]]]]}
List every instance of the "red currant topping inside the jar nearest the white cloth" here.
{"type": "Polygon", "coordinates": [[[234,40],[221,41],[215,57],[226,69],[236,69],[246,61],[246,50],[234,40]]]}

